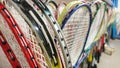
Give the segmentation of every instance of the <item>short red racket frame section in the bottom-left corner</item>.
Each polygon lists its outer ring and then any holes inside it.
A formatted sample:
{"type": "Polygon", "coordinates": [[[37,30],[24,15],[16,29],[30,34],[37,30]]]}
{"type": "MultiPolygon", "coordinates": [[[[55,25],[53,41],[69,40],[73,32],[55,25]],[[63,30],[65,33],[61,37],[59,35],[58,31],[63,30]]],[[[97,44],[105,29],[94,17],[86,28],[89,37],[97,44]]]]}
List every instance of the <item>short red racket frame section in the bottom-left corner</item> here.
{"type": "Polygon", "coordinates": [[[12,65],[13,68],[21,68],[19,61],[17,60],[15,54],[13,53],[10,45],[6,41],[5,37],[3,36],[2,32],[0,31],[0,46],[4,51],[5,55],[7,56],[8,61],[12,65]]]}

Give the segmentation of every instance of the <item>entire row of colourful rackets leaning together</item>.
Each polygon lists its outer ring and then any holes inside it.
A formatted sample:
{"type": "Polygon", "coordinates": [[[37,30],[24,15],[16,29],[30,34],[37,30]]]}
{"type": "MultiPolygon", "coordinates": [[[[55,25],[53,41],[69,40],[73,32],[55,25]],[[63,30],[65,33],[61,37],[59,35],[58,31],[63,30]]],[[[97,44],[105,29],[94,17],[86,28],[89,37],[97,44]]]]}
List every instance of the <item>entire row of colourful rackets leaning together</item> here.
{"type": "Polygon", "coordinates": [[[111,13],[103,1],[0,0],[0,68],[86,67],[111,13]]]}

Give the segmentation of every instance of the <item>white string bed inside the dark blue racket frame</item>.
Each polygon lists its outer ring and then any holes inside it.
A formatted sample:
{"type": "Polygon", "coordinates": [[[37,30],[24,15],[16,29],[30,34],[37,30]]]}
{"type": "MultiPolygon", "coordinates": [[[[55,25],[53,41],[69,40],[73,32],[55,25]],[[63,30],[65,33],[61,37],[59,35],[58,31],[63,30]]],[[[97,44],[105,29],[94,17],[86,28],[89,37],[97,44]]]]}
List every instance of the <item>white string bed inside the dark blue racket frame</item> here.
{"type": "Polygon", "coordinates": [[[64,37],[74,66],[86,38],[89,25],[89,13],[84,8],[79,8],[70,17],[63,28],[64,37]]]}

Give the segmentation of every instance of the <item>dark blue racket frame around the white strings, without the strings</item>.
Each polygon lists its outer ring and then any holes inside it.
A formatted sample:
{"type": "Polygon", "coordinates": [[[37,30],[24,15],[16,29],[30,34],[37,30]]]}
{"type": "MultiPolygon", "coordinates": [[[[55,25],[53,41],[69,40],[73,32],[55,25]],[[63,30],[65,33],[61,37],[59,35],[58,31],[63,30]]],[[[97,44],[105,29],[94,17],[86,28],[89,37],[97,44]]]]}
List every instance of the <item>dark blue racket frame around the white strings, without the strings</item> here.
{"type": "Polygon", "coordinates": [[[81,64],[82,60],[84,60],[84,58],[87,56],[88,53],[84,54],[84,48],[85,48],[85,44],[86,44],[86,41],[88,39],[88,34],[89,34],[89,31],[90,31],[90,27],[91,27],[91,24],[92,24],[92,12],[91,12],[91,9],[90,9],[90,6],[89,4],[80,4],[80,5],[77,5],[75,8],[73,8],[68,14],[67,16],[65,17],[65,19],[63,20],[62,24],[61,24],[61,29],[64,28],[65,24],[67,23],[68,19],[72,16],[72,14],[79,8],[85,6],[88,11],[89,11],[89,16],[90,16],[90,19],[89,19],[89,28],[88,28],[88,32],[87,32],[87,35],[86,35],[86,39],[85,39],[85,42],[84,42],[84,45],[83,45],[83,50],[78,58],[78,61],[76,62],[75,66],[73,66],[73,68],[78,68],[79,65],[81,64]],[[84,54],[84,57],[81,58],[81,55],[84,54]],[[81,58],[81,61],[79,60],[81,58]]]}

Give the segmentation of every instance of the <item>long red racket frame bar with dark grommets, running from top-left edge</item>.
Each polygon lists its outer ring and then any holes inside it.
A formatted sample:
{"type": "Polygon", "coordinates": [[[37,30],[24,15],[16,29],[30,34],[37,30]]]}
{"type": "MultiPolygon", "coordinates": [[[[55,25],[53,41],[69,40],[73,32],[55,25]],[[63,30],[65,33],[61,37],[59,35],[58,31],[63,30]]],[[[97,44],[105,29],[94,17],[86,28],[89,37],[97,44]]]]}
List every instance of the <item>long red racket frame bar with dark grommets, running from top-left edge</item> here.
{"type": "Polygon", "coordinates": [[[13,17],[10,15],[8,10],[2,4],[0,4],[0,5],[2,6],[0,12],[3,15],[3,17],[6,19],[10,29],[12,30],[18,43],[20,44],[20,47],[22,48],[22,51],[24,52],[24,55],[30,65],[30,67],[38,67],[37,62],[36,62],[36,60],[33,56],[33,53],[30,49],[30,45],[27,43],[23,33],[21,32],[20,28],[18,27],[18,24],[15,22],[13,17]]]}

